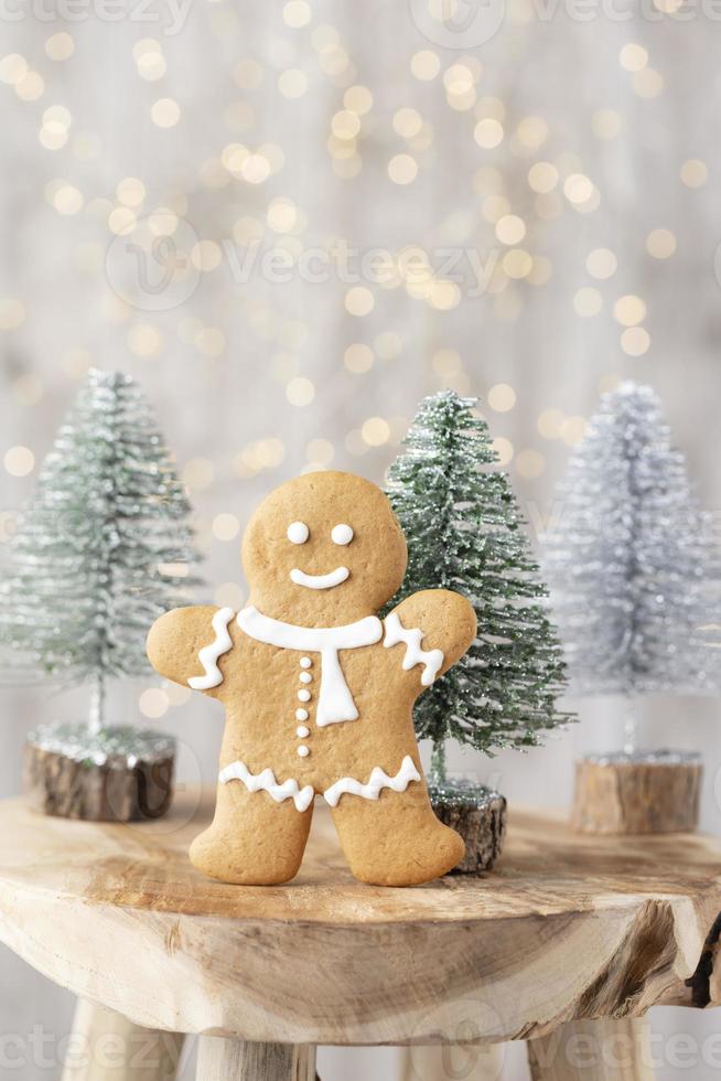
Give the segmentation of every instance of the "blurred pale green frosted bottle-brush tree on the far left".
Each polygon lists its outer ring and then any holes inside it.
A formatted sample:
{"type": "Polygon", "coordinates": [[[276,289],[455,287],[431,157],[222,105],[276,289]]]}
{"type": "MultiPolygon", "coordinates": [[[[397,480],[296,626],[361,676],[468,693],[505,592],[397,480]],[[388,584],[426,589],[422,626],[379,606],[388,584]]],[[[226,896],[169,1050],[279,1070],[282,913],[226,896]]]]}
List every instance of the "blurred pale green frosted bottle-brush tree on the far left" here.
{"type": "Polygon", "coordinates": [[[6,681],[89,684],[98,734],[106,682],[150,671],[148,629],[182,603],[195,559],[190,513],[137,385],[92,371],[12,540],[0,589],[6,681]]]}

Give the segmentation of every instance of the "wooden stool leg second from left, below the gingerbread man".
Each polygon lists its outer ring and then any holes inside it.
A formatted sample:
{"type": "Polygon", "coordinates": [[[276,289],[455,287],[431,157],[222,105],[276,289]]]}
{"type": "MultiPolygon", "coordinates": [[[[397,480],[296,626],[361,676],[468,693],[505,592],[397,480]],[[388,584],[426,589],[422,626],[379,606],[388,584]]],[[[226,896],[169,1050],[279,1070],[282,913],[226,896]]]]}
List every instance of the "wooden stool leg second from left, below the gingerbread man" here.
{"type": "Polygon", "coordinates": [[[315,1048],[202,1036],[196,1081],[315,1081],[315,1048]]]}

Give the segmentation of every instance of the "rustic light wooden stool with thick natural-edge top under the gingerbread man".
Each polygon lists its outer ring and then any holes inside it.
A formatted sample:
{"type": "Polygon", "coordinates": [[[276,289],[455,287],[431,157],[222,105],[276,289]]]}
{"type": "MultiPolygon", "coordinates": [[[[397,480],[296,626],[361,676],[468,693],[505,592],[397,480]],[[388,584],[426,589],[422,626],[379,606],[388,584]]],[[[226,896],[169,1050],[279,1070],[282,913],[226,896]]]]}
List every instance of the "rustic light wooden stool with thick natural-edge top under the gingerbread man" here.
{"type": "Polygon", "coordinates": [[[512,809],[496,873],[383,889],[351,877],[319,807],[295,881],[225,886],[187,859],[213,799],[138,826],[0,804],[0,939],[80,997],[64,1081],[169,1081],[183,1032],[201,1081],[310,1081],[318,1043],[408,1045],[408,1081],[470,1079],[471,1045],[514,1039],[535,1079],[637,1081],[636,1018],[721,1002],[708,837],[581,836],[512,809]],[[430,1043],[463,1045],[465,1072],[430,1043]]]}

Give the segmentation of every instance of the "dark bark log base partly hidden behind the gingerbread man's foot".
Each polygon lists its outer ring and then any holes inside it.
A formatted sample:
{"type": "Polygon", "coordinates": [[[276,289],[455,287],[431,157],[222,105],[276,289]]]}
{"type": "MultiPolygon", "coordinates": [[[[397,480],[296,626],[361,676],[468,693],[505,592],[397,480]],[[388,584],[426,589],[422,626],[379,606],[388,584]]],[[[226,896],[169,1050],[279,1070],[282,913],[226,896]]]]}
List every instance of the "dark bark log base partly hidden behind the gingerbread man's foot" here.
{"type": "Polygon", "coordinates": [[[454,874],[477,875],[489,870],[506,835],[506,798],[467,782],[429,784],[433,811],[446,826],[460,833],[465,856],[454,874]]]}

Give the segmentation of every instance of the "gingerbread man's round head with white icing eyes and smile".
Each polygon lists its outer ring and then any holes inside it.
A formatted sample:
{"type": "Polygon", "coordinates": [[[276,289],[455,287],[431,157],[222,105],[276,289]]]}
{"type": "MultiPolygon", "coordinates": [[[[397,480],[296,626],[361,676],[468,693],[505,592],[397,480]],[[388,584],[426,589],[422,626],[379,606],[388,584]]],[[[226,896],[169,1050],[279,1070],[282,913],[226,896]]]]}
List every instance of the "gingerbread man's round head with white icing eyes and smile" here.
{"type": "Polygon", "coordinates": [[[308,473],[276,489],[243,539],[250,603],[308,625],[375,614],[400,586],[406,559],[388,500],[351,473],[308,473]]]}

